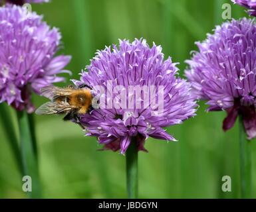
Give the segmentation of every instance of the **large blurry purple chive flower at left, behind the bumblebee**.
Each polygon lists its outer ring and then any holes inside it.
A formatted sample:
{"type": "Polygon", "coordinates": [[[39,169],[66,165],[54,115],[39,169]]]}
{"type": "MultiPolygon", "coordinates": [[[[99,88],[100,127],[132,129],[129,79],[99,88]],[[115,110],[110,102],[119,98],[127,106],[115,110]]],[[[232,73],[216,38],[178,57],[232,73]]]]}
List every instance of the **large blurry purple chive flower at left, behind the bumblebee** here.
{"type": "Polygon", "coordinates": [[[54,56],[61,34],[36,13],[16,5],[0,7],[0,103],[33,112],[31,93],[64,78],[70,56],[54,56]]]}

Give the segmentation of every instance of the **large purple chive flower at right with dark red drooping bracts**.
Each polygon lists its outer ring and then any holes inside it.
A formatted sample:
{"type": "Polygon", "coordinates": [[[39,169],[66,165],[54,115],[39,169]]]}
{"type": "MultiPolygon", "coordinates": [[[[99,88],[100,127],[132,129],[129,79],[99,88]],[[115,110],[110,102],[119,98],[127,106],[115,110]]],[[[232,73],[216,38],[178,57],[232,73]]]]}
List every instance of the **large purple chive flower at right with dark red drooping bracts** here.
{"type": "Polygon", "coordinates": [[[248,138],[256,136],[256,25],[241,19],[216,26],[203,42],[196,43],[199,52],[188,60],[186,76],[193,92],[207,100],[208,111],[227,111],[223,130],[233,127],[242,115],[248,138]]]}

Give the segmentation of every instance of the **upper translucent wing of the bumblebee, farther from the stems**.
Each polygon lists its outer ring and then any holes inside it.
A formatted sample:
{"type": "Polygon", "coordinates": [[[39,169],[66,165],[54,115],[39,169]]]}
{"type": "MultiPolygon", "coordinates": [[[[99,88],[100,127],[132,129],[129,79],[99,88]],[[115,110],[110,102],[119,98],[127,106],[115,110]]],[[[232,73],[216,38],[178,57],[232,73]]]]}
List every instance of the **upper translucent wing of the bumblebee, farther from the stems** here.
{"type": "Polygon", "coordinates": [[[59,96],[66,96],[72,93],[72,89],[70,87],[55,87],[55,86],[46,86],[41,89],[41,95],[51,99],[52,101],[59,96]]]}

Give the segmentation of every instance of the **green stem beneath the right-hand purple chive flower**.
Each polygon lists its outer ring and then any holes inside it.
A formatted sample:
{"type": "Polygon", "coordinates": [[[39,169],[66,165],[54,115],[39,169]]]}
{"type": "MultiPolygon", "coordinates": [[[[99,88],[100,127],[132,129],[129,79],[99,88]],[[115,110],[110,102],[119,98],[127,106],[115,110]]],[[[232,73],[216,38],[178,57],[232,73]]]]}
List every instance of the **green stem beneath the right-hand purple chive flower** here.
{"type": "Polygon", "coordinates": [[[241,197],[251,198],[251,146],[247,140],[243,119],[239,116],[240,182],[241,197]]]}

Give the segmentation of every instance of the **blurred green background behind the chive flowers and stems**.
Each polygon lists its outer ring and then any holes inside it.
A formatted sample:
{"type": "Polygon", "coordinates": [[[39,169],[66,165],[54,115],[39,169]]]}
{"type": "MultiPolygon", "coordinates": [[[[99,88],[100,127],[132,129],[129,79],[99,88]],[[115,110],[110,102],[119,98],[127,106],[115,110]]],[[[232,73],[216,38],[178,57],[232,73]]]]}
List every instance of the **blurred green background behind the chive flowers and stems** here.
{"type": "MultiPolygon", "coordinates": [[[[184,76],[194,44],[223,22],[221,5],[230,3],[232,17],[247,17],[244,9],[226,0],[52,0],[32,5],[51,26],[60,28],[63,48],[69,54],[68,69],[78,73],[98,49],[117,43],[118,38],[144,37],[161,44],[165,56],[180,62],[184,76]]],[[[33,97],[38,107],[47,99],[33,97]]],[[[140,198],[231,198],[240,197],[239,142],[237,125],[224,133],[224,112],[205,113],[168,132],[179,142],[149,138],[148,153],[139,152],[140,198]],[[221,191],[222,176],[231,176],[232,191],[221,191]]],[[[10,119],[16,123],[13,109],[10,119]]],[[[96,151],[96,138],[85,137],[80,127],[59,116],[35,116],[43,195],[46,198],[125,198],[125,157],[118,152],[96,151]]],[[[14,126],[17,132],[17,124],[14,126]]],[[[25,198],[21,175],[0,122],[0,197],[25,198]]],[[[256,177],[256,141],[251,142],[253,179],[256,177]]],[[[256,180],[253,197],[256,197],[256,180]]]]}

